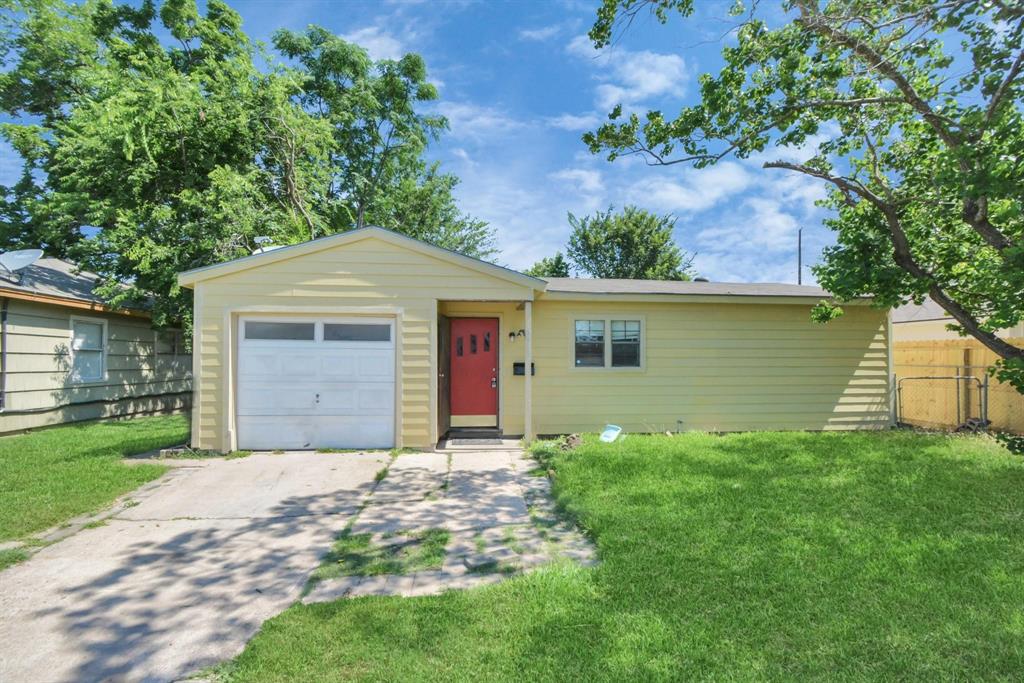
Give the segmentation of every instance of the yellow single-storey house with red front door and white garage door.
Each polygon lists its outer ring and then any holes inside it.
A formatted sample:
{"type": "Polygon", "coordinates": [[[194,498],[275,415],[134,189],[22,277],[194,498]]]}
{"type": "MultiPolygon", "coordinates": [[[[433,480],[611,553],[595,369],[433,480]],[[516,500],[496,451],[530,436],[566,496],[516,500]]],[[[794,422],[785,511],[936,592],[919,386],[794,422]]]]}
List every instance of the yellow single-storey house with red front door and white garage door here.
{"type": "Polygon", "coordinates": [[[816,325],[816,288],[545,281],[378,227],[179,283],[203,449],[890,424],[887,312],[816,325]]]}

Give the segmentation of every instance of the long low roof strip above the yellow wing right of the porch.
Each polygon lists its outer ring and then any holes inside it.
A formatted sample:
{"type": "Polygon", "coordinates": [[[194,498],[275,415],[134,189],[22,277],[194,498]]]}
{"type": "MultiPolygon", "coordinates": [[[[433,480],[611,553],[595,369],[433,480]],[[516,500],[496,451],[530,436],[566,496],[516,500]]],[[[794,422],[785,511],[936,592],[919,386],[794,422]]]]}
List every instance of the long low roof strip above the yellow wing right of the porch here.
{"type": "Polygon", "coordinates": [[[705,296],[808,297],[821,299],[828,292],[807,285],[777,283],[706,283],[668,280],[595,280],[546,278],[549,294],[683,294],[705,296]]]}

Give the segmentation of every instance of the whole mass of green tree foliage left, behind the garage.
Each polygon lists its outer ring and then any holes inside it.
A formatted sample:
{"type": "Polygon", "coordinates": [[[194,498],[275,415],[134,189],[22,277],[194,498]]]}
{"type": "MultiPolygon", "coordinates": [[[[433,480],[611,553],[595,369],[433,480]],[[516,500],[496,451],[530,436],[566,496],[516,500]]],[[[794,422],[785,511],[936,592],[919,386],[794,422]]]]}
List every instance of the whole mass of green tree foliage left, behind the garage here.
{"type": "Polygon", "coordinates": [[[0,241],[102,276],[113,304],[190,319],[176,273],[376,222],[473,256],[458,179],[423,160],[445,128],[421,57],[374,62],[310,27],[282,63],[209,0],[0,0],[0,134],[24,173],[0,188],[0,241]],[[160,35],[174,42],[165,44],[160,35]],[[258,67],[260,63],[268,65],[258,67]]]}

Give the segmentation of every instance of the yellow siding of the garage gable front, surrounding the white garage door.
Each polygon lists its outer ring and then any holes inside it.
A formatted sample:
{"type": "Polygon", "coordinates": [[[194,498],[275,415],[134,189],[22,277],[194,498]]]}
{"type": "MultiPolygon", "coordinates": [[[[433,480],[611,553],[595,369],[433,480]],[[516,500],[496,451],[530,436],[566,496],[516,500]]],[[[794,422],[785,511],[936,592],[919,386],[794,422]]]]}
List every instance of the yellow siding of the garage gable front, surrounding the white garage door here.
{"type": "MultiPolygon", "coordinates": [[[[225,340],[233,335],[223,330],[225,311],[281,306],[400,308],[399,434],[402,445],[428,447],[436,438],[433,337],[437,300],[528,296],[525,288],[372,238],[199,283],[196,328],[201,377],[195,399],[194,440],[206,449],[230,447],[225,372],[230,360],[224,353],[225,340]]],[[[294,314],[323,317],[330,313],[294,314]]],[[[231,325],[236,325],[234,317],[231,325]]]]}

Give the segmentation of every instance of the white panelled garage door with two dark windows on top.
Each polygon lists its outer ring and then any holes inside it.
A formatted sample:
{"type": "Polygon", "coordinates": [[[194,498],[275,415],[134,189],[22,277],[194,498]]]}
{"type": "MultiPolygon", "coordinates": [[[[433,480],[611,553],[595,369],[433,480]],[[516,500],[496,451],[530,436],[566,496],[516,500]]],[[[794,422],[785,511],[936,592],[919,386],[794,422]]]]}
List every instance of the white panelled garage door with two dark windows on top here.
{"type": "Polygon", "coordinates": [[[391,319],[239,322],[239,447],[394,445],[391,319]]]}

